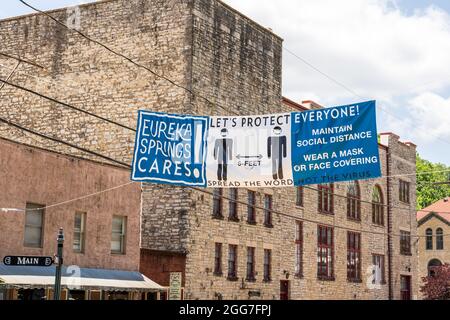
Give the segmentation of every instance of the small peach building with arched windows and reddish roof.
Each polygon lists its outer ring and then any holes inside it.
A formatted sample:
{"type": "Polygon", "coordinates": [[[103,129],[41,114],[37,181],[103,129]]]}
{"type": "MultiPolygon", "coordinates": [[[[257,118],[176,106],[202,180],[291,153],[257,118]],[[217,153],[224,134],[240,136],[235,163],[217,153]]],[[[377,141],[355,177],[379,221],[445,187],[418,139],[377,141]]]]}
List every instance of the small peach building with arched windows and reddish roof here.
{"type": "Polygon", "coordinates": [[[444,198],[417,212],[419,266],[418,286],[433,268],[450,264],[450,200],[444,198]]]}

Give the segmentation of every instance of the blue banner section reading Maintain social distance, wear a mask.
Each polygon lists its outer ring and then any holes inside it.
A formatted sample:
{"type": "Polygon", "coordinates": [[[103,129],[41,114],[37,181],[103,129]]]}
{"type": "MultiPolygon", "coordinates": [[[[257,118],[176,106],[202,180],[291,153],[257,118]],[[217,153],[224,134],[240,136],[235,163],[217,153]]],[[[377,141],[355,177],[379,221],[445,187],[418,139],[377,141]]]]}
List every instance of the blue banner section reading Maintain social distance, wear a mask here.
{"type": "Polygon", "coordinates": [[[295,185],[381,176],[375,101],[292,113],[295,185]]]}

